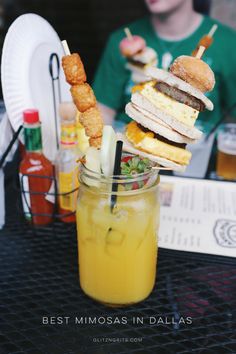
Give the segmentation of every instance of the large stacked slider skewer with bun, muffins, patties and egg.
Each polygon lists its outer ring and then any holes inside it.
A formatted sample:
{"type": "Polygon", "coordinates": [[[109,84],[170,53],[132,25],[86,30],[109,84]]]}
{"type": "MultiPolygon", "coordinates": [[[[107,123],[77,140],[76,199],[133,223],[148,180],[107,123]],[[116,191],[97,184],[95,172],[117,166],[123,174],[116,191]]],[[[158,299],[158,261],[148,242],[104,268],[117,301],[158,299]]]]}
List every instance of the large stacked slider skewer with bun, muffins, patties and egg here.
{"type": "Polygon", "coordinates": [[[147,74],[152,81],[132,94],[126,105],[126,113],[134,121],[126,127],[124,148],[184,171],[191,159],[186,144],[202,135],[194,127],[198,114],[213,109],[203,92],[213,89],[214,73],[201,59],[181,56],[170,72],[148,68],[147,74]]]}

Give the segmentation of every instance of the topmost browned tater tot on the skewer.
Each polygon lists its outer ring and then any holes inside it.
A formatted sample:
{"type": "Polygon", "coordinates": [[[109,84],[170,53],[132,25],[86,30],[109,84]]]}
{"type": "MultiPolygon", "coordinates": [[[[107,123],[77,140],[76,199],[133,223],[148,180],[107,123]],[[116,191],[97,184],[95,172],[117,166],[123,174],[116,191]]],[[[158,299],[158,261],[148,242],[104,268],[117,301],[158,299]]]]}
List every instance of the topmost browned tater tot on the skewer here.
{"type": "Polygon", "coordinates": [[[70,85],[82,84],[86,81],[84,65],[78,53],[62,57],[62,67],[66,81],[70,85]]]}

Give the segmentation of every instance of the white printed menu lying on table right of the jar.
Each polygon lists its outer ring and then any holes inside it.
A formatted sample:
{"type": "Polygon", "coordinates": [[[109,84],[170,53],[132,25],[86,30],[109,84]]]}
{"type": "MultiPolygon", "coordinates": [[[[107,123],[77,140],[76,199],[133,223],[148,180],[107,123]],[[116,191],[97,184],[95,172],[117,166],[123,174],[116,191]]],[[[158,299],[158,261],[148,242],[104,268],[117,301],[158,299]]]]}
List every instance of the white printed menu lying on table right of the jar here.
{"type": "Polygon", "coordinates": [[[236,184],[161,176],[159,247],[236,257],[236,184]]]}

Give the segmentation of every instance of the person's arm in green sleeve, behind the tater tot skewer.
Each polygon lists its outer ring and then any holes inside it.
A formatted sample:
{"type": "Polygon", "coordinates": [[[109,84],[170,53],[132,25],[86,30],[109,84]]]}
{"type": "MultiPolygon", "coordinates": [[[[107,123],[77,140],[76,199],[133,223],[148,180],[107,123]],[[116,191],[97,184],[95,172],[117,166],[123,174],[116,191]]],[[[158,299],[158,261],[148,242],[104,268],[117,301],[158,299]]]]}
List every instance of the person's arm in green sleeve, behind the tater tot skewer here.
{"type": "Polygon", "coordinates": [[[124,106],[124,88],[129,73],[119,51],[123,36],[121,31],[110,36],[94,77],[93,89],[105,124],[113,124],[117,111],[124,106]]]}

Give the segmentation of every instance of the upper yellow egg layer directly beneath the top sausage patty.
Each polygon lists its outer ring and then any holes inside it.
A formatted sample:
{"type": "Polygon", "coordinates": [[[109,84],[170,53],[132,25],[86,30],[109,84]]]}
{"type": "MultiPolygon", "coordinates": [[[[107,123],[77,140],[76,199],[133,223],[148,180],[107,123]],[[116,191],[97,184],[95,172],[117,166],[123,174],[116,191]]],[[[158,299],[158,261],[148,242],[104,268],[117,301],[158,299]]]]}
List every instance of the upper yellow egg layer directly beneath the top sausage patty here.
{"type": "Polygon", "coordinates": [[[173,98],[157,91],[151,85],[145,85],[140,93],[155,107],[176,118],[179,122],[193,127],[199,112],[173,98]]]}

